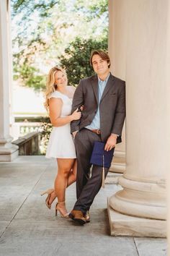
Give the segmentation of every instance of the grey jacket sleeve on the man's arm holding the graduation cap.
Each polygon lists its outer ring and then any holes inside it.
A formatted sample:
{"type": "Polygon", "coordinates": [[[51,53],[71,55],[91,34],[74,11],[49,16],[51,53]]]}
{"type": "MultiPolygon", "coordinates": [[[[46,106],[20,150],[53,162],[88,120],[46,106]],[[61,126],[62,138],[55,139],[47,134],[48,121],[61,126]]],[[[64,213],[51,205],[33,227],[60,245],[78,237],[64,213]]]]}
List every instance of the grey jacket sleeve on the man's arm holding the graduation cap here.
{"type": "Polygon", "coordinates": [[[117,108],[115,112],[115,119],[112,126],[112,133],[115,135],[122,135],[122,127],[125,120],[125,81],[121,82],[117,108]]]}

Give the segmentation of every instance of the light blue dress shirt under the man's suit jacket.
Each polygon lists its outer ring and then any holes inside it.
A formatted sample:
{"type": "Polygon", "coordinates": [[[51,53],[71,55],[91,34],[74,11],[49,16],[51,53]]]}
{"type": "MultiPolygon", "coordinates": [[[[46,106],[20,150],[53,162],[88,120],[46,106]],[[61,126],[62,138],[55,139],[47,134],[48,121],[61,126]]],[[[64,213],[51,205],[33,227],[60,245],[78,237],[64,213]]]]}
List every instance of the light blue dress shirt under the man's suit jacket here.
{"type": "MultiPolygon", "coordinates": [[[[104,81],[100,80],[99,77],[98,77],[99,103],[100,103],[100,100],[102,98],[104,88],[107,85],[107,81],[109,79],[109,74],[108,74],[107,78],[104,81]]],[[[94,119],[91,121],[91,124],[87,125],[85,128],[87,128],[87,129],[100,129],[99,104],[98,104],[98,108],[97,108],[97,114],[95,114],[94,119]]]]}

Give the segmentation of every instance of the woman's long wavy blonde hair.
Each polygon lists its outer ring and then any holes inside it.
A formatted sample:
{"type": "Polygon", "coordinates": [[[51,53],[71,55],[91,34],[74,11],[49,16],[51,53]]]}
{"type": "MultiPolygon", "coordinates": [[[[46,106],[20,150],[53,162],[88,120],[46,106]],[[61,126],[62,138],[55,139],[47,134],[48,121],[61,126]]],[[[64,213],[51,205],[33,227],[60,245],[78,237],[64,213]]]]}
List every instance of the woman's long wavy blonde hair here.
{"type": "Polygon", "coordinates": [[[49,96],[51,93],[55,92],[55,90],[57,88],[57,85],[55,85],[55,74],[58,71],[61,71],[64,74],[66,74],[65,69],[62,69],[61,67],[57,67],[57,66],[50,69],[50,72],[48,73],[48,78],[47,78],[47,82],[46,82],[46,91],[45,91],[45,103],[44,103],[44,106],[47,111],[49,108],[49,96]]]}

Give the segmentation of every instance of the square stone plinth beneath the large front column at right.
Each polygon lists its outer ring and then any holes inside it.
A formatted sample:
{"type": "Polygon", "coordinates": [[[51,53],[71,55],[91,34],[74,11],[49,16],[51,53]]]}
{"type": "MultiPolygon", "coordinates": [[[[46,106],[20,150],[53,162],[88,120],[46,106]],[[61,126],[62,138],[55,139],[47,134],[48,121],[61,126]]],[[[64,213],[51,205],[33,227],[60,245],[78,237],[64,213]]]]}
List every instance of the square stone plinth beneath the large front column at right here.
{"type": "Polygon", "coordinates": [[[111,236],[166,237],[166,221],[138,218],[118,213],[107,200],[111,236]]]}

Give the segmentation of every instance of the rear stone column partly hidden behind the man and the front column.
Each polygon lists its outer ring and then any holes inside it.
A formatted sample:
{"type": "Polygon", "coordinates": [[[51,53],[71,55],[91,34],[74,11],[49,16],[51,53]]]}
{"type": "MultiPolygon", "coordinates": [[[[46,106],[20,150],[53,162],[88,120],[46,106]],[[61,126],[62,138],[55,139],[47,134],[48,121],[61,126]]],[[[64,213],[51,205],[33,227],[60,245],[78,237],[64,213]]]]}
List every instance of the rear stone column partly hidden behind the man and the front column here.
{"type": "MultiPolygon", "coordinates": [[[[110,70],[116,77],[125,80],[126,55],[124,43],[126,40],[126,33],[124,24],[119,24],[118,27],[115,24],[115,13],[117,15],[121,15],[119,9],[115,11],[116,7],[117,6],[115,5],[114,1],[109,0],[109,57],[111,61],[110,70]],[[119,41],[117,45],[116,38],[120,31],[122,32],[122,40],[119,41]],[[117,52],[119,54],[117,54],[117,52]]],[[[122,143],[118,144],[115,148],[114,158],[109,171],[117,173],[123,173],[125,171],[125,126],[122,130],[122,143]]]]}

